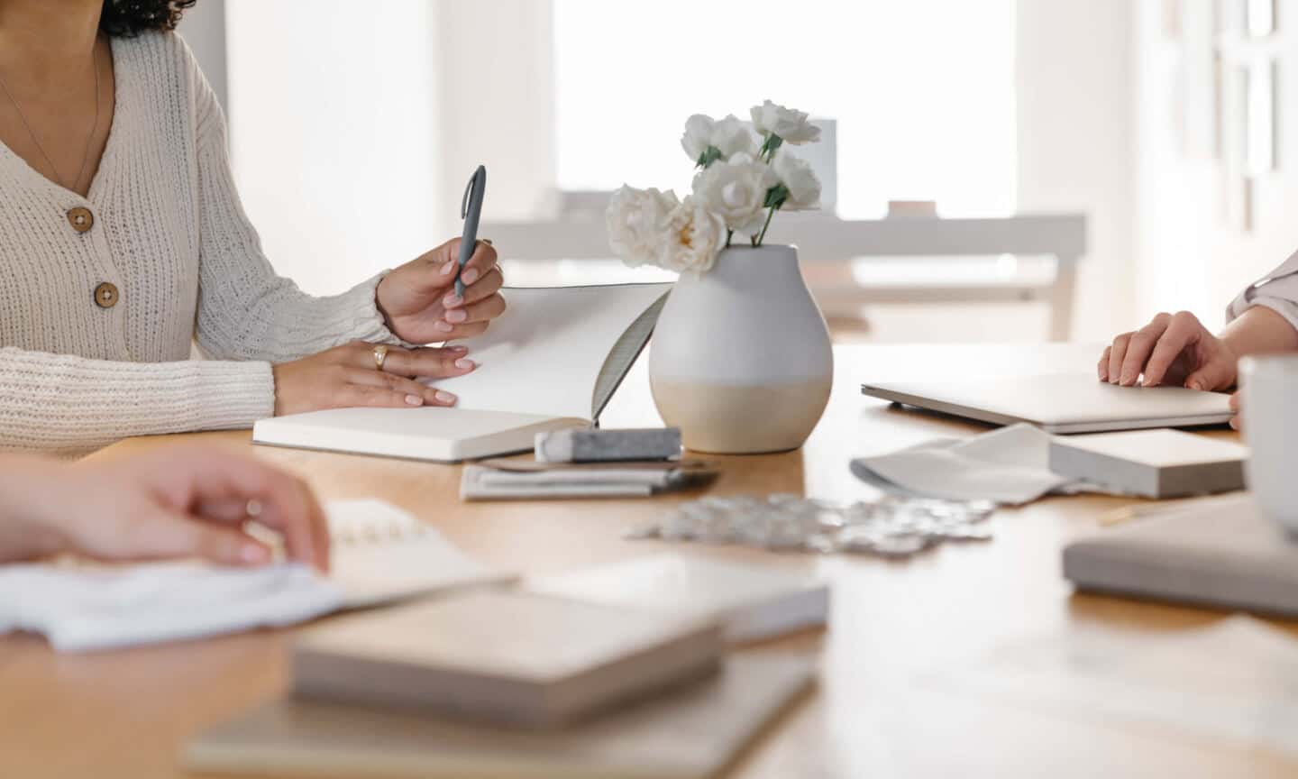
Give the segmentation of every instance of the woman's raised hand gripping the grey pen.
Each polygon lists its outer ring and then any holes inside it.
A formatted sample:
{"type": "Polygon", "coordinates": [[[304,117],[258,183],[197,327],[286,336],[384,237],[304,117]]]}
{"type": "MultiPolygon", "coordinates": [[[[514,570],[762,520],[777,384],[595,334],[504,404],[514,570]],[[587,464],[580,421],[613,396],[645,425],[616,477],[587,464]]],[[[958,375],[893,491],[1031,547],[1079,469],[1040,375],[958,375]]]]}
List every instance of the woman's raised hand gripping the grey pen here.
{"type": "Polygon", "coordinates": [[[458,266],[457,238],[386,275],[375,301],[392,332],[413,344],[458,340],[480,335],[505,313],[505,278],[491,243],[479,240],[461,271],[463,300],[456,297],[458,266]]]}

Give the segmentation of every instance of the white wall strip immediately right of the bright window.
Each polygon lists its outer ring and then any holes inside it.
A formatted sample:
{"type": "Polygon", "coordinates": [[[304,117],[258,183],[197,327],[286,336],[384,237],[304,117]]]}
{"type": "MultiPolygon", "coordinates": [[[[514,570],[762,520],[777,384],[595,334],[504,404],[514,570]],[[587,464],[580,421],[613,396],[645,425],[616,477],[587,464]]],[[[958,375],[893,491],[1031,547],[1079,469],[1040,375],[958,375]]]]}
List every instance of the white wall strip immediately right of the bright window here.
{"type": "MultiPolygon", "coordinates": [[[[1154,5],[1154,3],[1149,3],[1154,5]]],[[[1129,328],[1134,273],[1134,8],[1129,0],[1019,0],[1019,209],[1081,210],[1075,340],[1129,328]]]]}

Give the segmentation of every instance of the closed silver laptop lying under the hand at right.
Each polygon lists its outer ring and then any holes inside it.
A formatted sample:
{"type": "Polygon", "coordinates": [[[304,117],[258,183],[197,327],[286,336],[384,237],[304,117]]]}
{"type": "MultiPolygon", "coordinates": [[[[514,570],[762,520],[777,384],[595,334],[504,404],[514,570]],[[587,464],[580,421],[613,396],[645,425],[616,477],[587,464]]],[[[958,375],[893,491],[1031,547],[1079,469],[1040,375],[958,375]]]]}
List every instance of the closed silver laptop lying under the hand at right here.
{"type": "Polygon", "coordinates": [[[993,425],[1031,422],[1046,432],[1102,432],[1220,425],[1231,397],[1184,387],[1116,387],[1096,374],[959,382],[880,382],[861,391],[909,406],[993,425]]]}

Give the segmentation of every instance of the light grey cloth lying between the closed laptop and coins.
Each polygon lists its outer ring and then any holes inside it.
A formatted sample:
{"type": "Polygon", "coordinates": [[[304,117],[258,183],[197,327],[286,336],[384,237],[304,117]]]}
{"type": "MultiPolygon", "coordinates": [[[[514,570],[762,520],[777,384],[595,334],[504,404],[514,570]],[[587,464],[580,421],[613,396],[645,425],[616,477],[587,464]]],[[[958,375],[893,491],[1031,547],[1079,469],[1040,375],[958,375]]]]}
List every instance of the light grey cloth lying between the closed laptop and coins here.
{"type": "Polygon", "coordinates": [[[971,439],[936,439],[851,461],[851,473],[909,497],[1025,504],[1049,492],[1088,489],[1050,470],[1050,435],[1014,425],[971,439]]]}

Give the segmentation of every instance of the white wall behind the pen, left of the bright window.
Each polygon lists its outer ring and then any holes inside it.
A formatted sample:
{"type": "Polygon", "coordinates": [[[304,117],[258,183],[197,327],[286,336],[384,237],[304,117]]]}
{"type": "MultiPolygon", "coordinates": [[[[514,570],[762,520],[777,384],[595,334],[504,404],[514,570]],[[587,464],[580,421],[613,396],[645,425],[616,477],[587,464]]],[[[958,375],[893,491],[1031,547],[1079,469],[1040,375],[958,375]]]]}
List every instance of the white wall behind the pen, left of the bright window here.
{"type": "Polygon", "coordinates": [[[236,178],[267,256],[302,288],[339,292],[458,235],[479,164],[485,218],[545,208],[548,0],[226,6],[236,178]]]}

